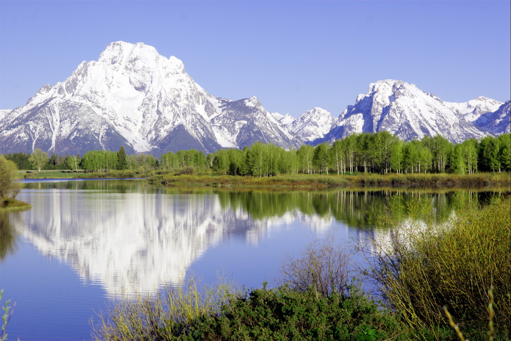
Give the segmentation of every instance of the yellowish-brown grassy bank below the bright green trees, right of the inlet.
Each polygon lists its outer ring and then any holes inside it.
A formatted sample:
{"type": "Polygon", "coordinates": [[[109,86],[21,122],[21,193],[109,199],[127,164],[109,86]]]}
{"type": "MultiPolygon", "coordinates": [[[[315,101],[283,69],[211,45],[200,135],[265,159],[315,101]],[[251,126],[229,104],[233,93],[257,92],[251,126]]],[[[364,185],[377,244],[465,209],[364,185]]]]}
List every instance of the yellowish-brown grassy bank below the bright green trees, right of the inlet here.
{"type": "Polygon", "coordinates": [[[296,174],[271,177],[232,176],[232,175],[172,175],[152,177],[152,183],[165,186],[243,186],[243,187],[290,187],[328,188],[336,186],[428,186],[428,187],[472,187],[510,186],[509,173],[477,174],[357,174],[321,175],[296,174]]]}

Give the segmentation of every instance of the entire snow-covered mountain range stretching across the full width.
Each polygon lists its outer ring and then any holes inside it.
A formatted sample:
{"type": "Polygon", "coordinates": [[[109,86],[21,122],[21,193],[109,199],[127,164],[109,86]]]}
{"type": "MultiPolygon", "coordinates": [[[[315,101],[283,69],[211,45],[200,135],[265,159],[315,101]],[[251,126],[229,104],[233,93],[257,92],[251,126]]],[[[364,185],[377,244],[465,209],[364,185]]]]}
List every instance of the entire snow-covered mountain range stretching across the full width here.
{"type": "Polygon", "coordinates": [[[243,148],[262,141],[284,148],[332,142],[354,132],[387,130],[403,140],[440,134],[453,142],[510,131],[509,101],[478,97],[442,101],[414,84],[369,85],[336,119],[319,107],[297,119],[270,113],[256,98],[214,97],[185,72],[181,60],[144,43],[112,42],[63,82],[44,85],[27,103],[0,110],[0,153],[84,154],[119,150],[243,148]]]}

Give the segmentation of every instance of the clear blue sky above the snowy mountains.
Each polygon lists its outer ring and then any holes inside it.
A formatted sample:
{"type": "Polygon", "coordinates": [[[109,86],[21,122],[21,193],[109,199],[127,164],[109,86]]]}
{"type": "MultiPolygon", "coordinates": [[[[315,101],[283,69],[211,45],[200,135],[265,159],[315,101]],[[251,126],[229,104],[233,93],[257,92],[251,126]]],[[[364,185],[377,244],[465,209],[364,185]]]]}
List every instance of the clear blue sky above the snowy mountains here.
{"type": "Polygon", "coordinates": [[[181,59],[207,92],[335,117],[369,83],[399,79],[464,102],[510,98],[509,1],[0,0],[0,108],[97,60],[112,41],[181,59]]]}

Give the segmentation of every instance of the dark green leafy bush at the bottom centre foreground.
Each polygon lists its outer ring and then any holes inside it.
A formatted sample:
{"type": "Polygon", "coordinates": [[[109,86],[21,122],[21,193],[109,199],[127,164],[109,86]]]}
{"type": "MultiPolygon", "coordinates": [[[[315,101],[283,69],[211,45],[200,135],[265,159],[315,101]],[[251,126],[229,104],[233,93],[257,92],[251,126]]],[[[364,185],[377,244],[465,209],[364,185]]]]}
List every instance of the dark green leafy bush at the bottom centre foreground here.
{"type": "MultiPolygon", "coordinates": [[[[403,326],[355,285],[328,297],[288,286],[252,289],[202,317],[189,332],[201,340],[354,340],[395,337],[403,326]]],[[[401,338],[403,339],[403,338],[401,338]]]]}

